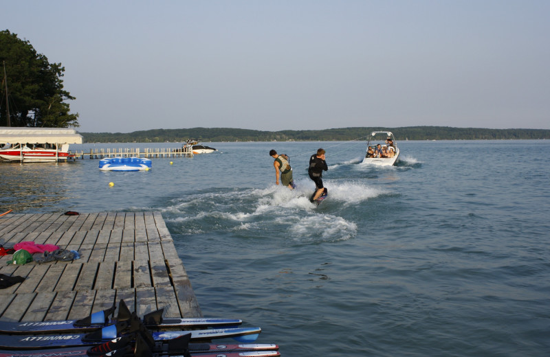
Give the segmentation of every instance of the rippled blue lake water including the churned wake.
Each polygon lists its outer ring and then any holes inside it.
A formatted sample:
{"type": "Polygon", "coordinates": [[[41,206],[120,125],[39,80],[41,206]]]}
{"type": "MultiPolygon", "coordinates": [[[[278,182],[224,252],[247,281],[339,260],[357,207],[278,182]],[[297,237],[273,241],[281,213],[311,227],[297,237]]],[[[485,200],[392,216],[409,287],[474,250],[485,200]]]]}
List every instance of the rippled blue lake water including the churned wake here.
{"type": "MultiPolygon", "coordinates": [[[[162,211],[203,314],[262,327],[283,356],[549,356],[550,141],[397,143],[390,168],[361,165],[360,141],[207,143],[148,172],[4,164],[0,203],[162,211]],[[272,148],[296,191],[274,185],[272,148]]],[[[175,144],[95,147],[129,146],[175,144]]]]}

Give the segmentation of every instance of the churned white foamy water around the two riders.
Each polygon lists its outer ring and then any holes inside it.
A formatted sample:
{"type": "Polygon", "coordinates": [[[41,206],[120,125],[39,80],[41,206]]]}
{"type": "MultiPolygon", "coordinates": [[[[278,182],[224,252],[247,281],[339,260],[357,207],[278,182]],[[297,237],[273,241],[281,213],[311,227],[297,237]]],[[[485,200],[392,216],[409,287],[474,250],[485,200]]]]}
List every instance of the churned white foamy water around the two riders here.
{"type": "Polygon", "coordinates": [[[353,181],[326,180],[329,197],[309,202],[314,185],[297,180],[297,189],[212,189],[171,200],[163,210],[170,231],[181,235],[224,234],[238,238],[278,239],[281,244],[318,244],[357,235],[351,212],[384,190],[353,181]],[[351,208],[351,209],[350,209],[351,208]]]}

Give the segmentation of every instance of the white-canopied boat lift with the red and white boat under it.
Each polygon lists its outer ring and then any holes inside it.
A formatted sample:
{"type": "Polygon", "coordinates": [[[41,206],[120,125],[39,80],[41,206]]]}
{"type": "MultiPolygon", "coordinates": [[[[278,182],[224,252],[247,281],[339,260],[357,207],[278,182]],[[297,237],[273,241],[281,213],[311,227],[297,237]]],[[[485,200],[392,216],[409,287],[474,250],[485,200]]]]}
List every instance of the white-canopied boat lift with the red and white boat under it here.
{"type": "Polygon", "coordinates": [[[69,128],[0,128],[0,159],[21,162],[56,162],[74,159],[69,143],[82,143],[82,135],[69,128]]]}

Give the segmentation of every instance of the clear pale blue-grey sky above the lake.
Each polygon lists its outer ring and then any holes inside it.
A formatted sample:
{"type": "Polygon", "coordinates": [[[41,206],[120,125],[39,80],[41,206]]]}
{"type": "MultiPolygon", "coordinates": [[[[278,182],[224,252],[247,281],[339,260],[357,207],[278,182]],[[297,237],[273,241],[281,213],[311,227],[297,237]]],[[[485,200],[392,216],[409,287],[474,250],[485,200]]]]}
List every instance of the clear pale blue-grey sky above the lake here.
{"type": "MultiPolygon", "coordinates": [[[[547,0],[2,0],[80,132],[550,129],[547,0]]],[[[9,69],[7,69],[9,71],[9,69]]]]}

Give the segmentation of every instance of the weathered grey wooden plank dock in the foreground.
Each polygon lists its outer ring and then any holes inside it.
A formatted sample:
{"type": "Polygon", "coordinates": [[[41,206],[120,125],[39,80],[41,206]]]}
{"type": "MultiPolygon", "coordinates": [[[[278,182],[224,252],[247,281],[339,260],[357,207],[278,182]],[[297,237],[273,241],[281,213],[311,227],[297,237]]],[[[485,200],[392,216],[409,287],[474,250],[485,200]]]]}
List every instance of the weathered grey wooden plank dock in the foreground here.
{"type": "Polygon", "coordinates": [[[55,244],[80,259],[7,264],[0,273],[25,281],[0,289],[0,320],[81,319],[124,299],[143,316],[164,308],[168,317],[201,317],[184,264],[159,212],[8,214],[0,217],[0,244],[55,244]]]}

